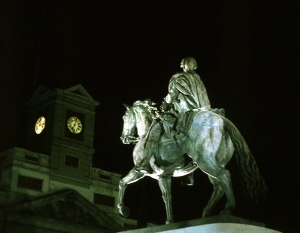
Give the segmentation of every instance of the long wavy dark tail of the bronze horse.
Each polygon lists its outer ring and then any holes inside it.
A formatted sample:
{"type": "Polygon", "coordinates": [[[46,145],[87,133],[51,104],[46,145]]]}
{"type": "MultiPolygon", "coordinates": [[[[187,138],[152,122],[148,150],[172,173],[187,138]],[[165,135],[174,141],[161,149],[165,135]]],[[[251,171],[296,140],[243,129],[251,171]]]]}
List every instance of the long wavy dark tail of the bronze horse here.
{"type": "Polygon", "coordinates": [[[259,174],[255,159],[238,129],[228,119],[224,117],[222,119],[224,121],[224,129],[229,133],[235,149],[235,158],[242,177],[243,189],[249,198],[258,202],[259,199],[264,198],[267,191],[264,179],[259,174]]]}

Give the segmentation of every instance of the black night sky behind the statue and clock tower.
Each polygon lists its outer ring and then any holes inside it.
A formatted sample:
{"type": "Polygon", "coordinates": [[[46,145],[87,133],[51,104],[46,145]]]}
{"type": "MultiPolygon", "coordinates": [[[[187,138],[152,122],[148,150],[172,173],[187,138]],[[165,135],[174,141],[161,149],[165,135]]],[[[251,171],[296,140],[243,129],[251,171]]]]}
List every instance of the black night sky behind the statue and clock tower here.
{"type": "MultiPolygon", "coordinates": [[[[269,188],[264,202],[245,198],[235,160],[233,215],[284,232],[299,230],[298,1],[2,1],[0,151],[24,147],[25,102],[40,84],[78,83],[100,102],[93,166],[126,175],[132,145],[123,145],[122,103],[160,103],[180,61],[193,56],[211,106],[224,108],[248,143],[269,188]]],[[[174,221],[201,217],[212,185],[172,184],[174,221]]],[[[163,224],[155,180],[128,186],[130,218],[163,224]]],[[[224,199],[213,214],[218,214],[224,199]]]]}

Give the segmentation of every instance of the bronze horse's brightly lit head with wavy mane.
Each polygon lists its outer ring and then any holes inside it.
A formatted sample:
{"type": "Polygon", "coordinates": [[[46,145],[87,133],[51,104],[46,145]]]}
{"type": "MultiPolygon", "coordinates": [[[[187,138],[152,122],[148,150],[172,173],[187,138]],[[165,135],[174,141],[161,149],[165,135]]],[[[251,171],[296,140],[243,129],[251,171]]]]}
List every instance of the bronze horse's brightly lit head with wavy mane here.
{"type": "Polygon", "coordinates": [[[157,109],[150,100],[135,101],[133,106],[123,104],[126,112],[123,116],[121,141],[124,144],[136,143],[149,129],[151,122],[157,117],[157,109]]]}

